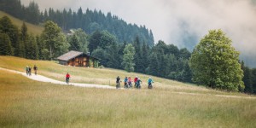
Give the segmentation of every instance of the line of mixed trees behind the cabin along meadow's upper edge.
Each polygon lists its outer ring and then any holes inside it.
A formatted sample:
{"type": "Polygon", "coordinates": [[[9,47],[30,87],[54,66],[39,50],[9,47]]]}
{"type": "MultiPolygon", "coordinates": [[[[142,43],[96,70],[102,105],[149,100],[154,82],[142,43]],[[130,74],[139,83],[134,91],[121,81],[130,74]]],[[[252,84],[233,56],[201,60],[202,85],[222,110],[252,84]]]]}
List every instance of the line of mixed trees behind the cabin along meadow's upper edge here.
{"type": "Polygon", "coordinates": [[[61,32],[61,27],[53,21],[44,23],[41,35],[27,32],[26,23],[20,29],[13,25],[9,17],[0,19],[1,55],[15,55],[35,60],[55,60],[68,50],[78,50],[100,58],[104,67],[125,69],[122,64],[127,44],[134,47],[134,72],[148,73],[167,79],[190,82],[188,59],[189,50],[177,49],[173,44],[159,41],[153,47],[138,37],[134,41],[119,43],[108,31],[96,30],[91,34],[82,29],[74,29],[70,35],[61,32]],[[167,64],[167,65],[166,65],[167,64]],[[166,68],[168,67],[168,68],[166,68]]]}

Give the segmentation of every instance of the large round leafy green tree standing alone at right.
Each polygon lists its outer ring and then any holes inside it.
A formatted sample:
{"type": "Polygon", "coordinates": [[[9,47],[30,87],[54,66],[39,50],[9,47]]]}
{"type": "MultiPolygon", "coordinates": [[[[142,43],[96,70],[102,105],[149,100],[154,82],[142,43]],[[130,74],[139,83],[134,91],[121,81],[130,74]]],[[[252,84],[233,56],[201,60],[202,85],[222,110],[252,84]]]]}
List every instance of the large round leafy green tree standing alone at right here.
{"type": "Polygon", "coordinates": [[[197,84],[224,90],[243,90],[239,52],[221,30],[211,30],[196,45],[190,58],[197,84]]]}

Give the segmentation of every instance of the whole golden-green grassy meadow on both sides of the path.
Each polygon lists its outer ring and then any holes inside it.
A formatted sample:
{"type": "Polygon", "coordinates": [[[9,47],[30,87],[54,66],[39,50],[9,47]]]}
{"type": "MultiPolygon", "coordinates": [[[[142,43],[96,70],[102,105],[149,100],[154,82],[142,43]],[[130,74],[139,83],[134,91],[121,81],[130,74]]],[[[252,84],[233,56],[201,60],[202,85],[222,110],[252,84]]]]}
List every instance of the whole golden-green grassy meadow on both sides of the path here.
{"type": "MultiPolygon", "coordinates": [[[[0,56],[0,67],[8,69],[24,72],[26,65],[33,64],[38,65],[39,74],[61,79],[70,72],[73,80],[84,83],[88,79],[103,79],[103,84],[106,79],[114,82],[117,74],[148,78],[108,68],[64,67],[55,61],[0,56]]],[[[1,70],[0,127],[253,128],[256,125],[255,96],[247,98],[240,93],[153,78],[154,90],[106,90],[40,83],[1,70]]]]}

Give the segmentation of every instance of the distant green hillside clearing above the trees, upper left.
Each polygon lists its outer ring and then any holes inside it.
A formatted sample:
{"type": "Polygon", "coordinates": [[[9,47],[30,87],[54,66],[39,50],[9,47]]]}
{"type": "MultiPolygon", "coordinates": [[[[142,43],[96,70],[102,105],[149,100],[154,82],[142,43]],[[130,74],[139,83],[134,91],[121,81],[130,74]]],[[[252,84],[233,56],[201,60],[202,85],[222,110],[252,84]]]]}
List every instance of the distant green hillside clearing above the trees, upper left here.
{"type": "MultiPolygon", "coordinates": [[[[0,18],[2,18],[4,15],[8,16],[9,19],[12,21],[12,23],[15,26],[18,26],[20,29],[20,27],[23,24],[22,20],[17,19],[12,15],[6,14],[3,11],[0,11],[0,18]]],[[[42,27],[42,26],[35,26],[35,25],[32,25],[31,23],[27,23],[27,22],[26,22],[26,26],[27,26],[28,33],[32,33],[34,35],[40,35],[44,31],[44,27],[42,27]]]]}

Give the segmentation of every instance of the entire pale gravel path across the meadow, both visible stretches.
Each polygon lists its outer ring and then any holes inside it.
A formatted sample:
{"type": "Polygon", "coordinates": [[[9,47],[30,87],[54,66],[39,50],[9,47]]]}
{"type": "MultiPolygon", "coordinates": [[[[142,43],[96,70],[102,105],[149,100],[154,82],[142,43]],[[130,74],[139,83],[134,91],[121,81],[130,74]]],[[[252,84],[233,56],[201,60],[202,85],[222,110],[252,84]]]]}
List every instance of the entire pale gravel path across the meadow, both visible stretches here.
{"type": "MultiPolygon", "coordinates": [[[[58,80],[55,80],[55,79],[49,79],[49,78],[44,77],[42,75],[32,74],[31,76],[27,76],[26,73],[22,73],[22,72],[19,72],[19,71],[10,70],[10,69],[6,69],[6,68],[2,68],[2,67],[0,67],[0,70],[9,71],[11,73],[19,73],[19,74],[22,74],[23,76],[25,76],[28,79],[33,79],[33,80],[37,80],[37,81],[40,81],[40,82],[49,82],[49,83],[53,83],[53,84],[73,85],[73,86],[88,87],[88,88],[116,89],[113,86],[100,85],[100,84],[80,84],[80,83],[69,83],[69,84],[67,84],[66,82],[58,81],[58,80]]],[[[188,93],[188,92],[182,92],[182,91],[180,91],[180,92],[174,91],[172,93],[181,94],[181,95],[193,95],[193,96],[210,95],[210,94],[201,94],[201,93],[188,93]]],[[[255,96],[228,96],[228,95],[212,95],[212,96],[219,96],[219,97],[226,97],[226,98],[256,99],[255,96]]]]}

